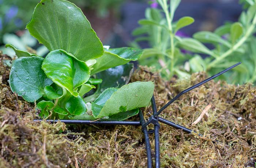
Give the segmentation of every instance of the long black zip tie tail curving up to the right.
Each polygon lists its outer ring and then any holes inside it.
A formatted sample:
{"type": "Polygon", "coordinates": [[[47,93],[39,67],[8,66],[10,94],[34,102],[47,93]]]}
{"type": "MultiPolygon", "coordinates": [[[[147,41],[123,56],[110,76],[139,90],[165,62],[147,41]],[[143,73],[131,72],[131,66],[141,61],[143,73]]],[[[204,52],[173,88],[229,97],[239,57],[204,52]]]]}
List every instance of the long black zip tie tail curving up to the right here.
{"type": "MultiPolygon", "coordinates": [[[[226,71],[229,71],[230,69],[232,69],[232,68],[234,68],[234,67],[236,67],[236,66],[238,66],[238,65],[240,65],[240,64],[241,64],[241,62],[238,62],[238,63],[236,63],[235,65],[233,65],[233,66],[231,66],[231,67],[229,67],[229,68],[227,68],[227,69],[225,69],[225,70],[219,72],[218,74],[215,74],[215,75],[211,76],[210,78],[207,78],[207,79],[205,79],[204,81],[199,82],[199,83],[197,83],[196,85],[193,85],[193,86],[189,87],[188,89],[185,89],[185,90],[181,91],[181,92],[180,92],[179,94],[177,94],[173,99],[171,99],[168,103],[166,103],[166,105],[164,105],[164,106],[157,112],[157,114],[153,114],[153,116],[151,116],[151,117],[152,117],[152,118],[155,118],[156,116],[158,116],[164,109],[166,109],[171,103],[173,103],[175,100],[177,100],[182,94],[185,94],[185,93],[187,93],[188,91],[190,91],[190,90],[192,90],[192,89],[195,89],[196,87],[199,87],[199,86],[203,85],[203,84],[206,83],[206,82],[211,81],[212,79],[218,77],[219,75],[222,75],[222,74],[225,73],[226,71]]],[[[146,126],[147,126],[148,124],[150,124],[151,121],[153,120],[153,119],[151,119],[151,117],[150,117],[150,119],[146,122],[146,124],[145,124],[146,126]]]]}

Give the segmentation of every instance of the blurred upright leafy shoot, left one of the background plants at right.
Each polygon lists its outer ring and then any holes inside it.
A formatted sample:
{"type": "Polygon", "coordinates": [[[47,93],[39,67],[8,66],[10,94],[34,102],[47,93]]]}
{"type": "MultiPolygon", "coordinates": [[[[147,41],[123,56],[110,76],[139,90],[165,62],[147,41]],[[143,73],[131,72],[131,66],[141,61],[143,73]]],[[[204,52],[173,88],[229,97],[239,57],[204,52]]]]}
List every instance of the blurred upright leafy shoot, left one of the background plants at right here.
{"type": "Polygon", "coordinates": [[[144,49],[140,63],[161,69],[162,75],[166,78],[170,78],[174,74],[187,76],[188,74],[181,72],[178,67],[186,57],[177,48],[178,36],[176,32],[182,27],[192,24],[194,19],[185,16],[177,22],[173,22],[174,12],[180,0],[170,1],[170,8],[167,0],[158,0],[157,2],[162,10],[147,8],[145,12],[146,19],[139,20],[141,27],[133,31],[135,36],[147,34],[147,36],[137,38],[136,42],[147,40],[152,46],[152,48],[144,49]],[[165,17],[162,16],[162,12],[165,17]]]}

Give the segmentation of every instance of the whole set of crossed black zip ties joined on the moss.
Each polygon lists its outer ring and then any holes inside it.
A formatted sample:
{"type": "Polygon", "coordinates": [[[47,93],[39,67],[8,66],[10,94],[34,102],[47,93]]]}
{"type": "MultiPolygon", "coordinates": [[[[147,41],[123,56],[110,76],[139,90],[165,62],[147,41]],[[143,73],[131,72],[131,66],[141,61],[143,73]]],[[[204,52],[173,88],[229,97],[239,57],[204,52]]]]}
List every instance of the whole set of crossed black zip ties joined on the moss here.
{"type": "MultiPolygon", "coordinates": [[[[157,106],[155,103],[155,98],[154,95],[151,98],[151,106],[152,106],[152,110],[153,110],[153,115],[150,116],[150,118],[148,119],[148,121],[144,120],[144,116],[142,111],[139,109],[139,117],[140,117],[140,121],[90,121],[90,120],[58,120],[61,122],[64,122],[65,124],[107,124],[107,125],[136,125],[136,126],[142,126],[142,132],[144,133],[145,136],[145,144],[146,144],[146,152],[147,152],[147,167],[148,168],[152,168],[152,157],[151,157],[151,147],[150,147],[150,140],[149,140],[149,134],[150,133],[154,133],[155,134],[155,168],[160,168],[160,147],[159,147],[159,129],[160,129],[160,125],[159,122],[162,122],[163,124],[167,124],[169,126],[172,126],[176,129],[181,129],[184,132],[187,133],[191,133],[191,132],[195,132],[189,128],[186,128],[184,126],[175,124],[172,121],[166,120],[164,118],[158,117],[158,115],[164,110],[166,109],[171,103],[173,103],[176,99],[178,99],[181,95],[187,93],[188,91],[195,89],[196,87],[199,87],[201,85],[203,85],[204,83],[211,81],[212,79],[218,77],[219,75],[229,71],[230,69],[240,65],[241,62],[238,62],[237,64],[219,72],[218,74],[215,74],[213,76],[211,76],[210,78],[205,79],[204,81],[197,83],[196,85],[193,85],[191,87],[189,87],[188,89],[185,89],[183,91],[181,91],[179,94],[177,94],[173,99],[171,99],[169,102],[166,103],[166,105],[164,105],[158,112],[157,112],[157,106]],[[148,130],[147,126],[149,124],[153,124],[154,125],[154,129],[153,130],[148,130]]],[[[50,122],[50,123],[56,123],[58,121],[56,120],[34,120],[34,121],[46,121],[46,122],[50,122]]],[[[196,132],[195,132],[196,133],[196,132]]],[[[202,136],[202,134],[198,133],[199,136],[202,136]]]]}

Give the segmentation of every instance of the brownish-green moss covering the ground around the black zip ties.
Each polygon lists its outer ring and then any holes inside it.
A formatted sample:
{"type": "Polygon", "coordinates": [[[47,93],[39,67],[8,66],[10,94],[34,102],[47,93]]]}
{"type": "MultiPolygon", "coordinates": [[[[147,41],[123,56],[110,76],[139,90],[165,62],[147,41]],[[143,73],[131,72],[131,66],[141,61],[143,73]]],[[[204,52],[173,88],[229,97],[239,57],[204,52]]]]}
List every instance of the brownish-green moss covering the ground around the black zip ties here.
{"type": "MultiPolygon", "coordinates": [[[[146,167],[140,126],[34,122],[38,117],[35,105],[12,93],[8,85],[10,67],[5,65],[5,60],[11,58],[0,54],[0,168],[146,167]]],[[[172,78],[166,82],[158,73],[141,66],[131,81],[154,81],[154,95],[160,109],[178,92],[205,78],[205,73],[197,73],[187,80],[172,78]]],[[[250,84],[235,86],[210,81],[183,95],[161,117],[203,136],[161,124],[161,167],[255,167],[255,106],[256,89],[250,84]],[[210,107],[207,112],[206,107],[210,107]],[[201,113],[205,114],[192,125],[201,113]]],[[[145,118],[152,114],[151,108],[142,110],[145,118]]],[[[150,140],[154,149],[152,134],[150,140]]]]}

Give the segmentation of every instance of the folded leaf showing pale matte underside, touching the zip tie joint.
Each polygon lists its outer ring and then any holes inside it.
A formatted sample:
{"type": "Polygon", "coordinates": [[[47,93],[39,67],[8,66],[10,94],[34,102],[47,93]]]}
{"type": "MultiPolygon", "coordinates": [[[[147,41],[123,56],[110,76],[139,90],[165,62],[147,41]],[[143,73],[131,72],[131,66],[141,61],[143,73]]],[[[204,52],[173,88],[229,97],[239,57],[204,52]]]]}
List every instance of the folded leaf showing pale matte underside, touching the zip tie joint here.
{"type": "Polygon", "coordinates": [[[153,82],[133,82],[122,86],[106,101],[96,118],[148,106],[154,86],[153,82]]]}

